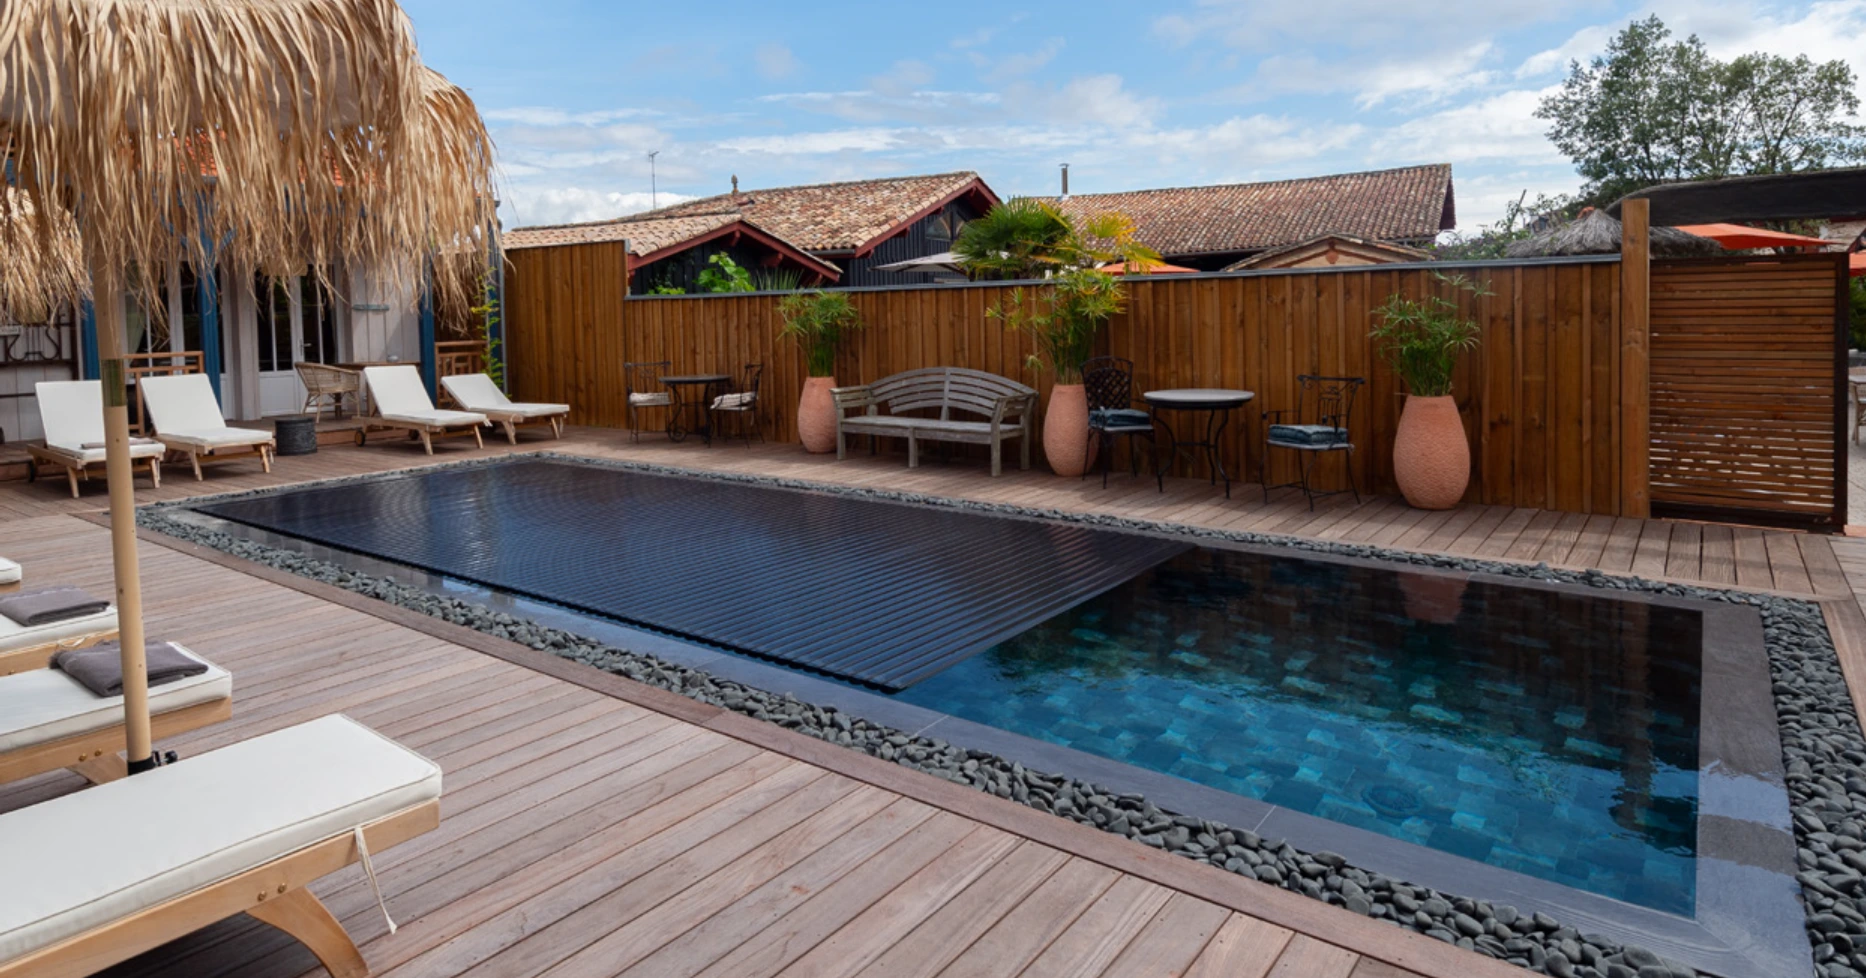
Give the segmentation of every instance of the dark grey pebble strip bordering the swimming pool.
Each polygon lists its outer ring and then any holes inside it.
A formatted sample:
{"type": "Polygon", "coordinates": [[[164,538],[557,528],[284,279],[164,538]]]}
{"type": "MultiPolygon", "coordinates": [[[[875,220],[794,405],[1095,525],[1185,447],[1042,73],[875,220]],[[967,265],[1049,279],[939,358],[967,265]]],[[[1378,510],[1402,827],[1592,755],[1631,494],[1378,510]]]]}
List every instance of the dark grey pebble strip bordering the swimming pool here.
{"type": "MultiPolygon", "coordinates": [[[[1860,734],[1840,659],[1816,605],[1786,597],[1663,584],[1644,579],[1612,577],[1599,571],[1562,571],[1545,564],[1500,564],[1437,554],[1383,551],[1375,547],[1276,538],[1248,532],[1202,530],[1125,517],[1028,510],[1004,504],[888,493],[877,489],[840,487],[799,480],[759,478],[743,474],[711,474],[661,465],[621,463],[541,452],[526,455],[543,461],[599,465],[631,472],[745,482],[784,489],[836,493],[884,502],[909,502],[970,510],[982,513],[1019,515],[1110,526],[1142,532],[1170,532],[1189,538],[1224,539],[1235,543],[1273,545],[1291,551],[1375,558],[1396,564],[1444,567],[1457,571],[1493,573],[1532,580],[1551,580],[1603,590],[1629,590],[1702,601],[1748,605],[1762,614],[1776,717],[1782,728],[1782,752],[1788,771],[1789,803],[1795,819],[1799,859],[1797,879],[1808,907],[1808,941],[1814,946],[1819,978],[1866,978],[1866,735],[1860,734]]],[[[509,459],[509,457],[508,457],[509,459]]],[[[435,468],[498,465],[508,459],[470,459],[435,468]]],[[[170,515],[170,510],[192,510],[233,498],[250,498],[306,487],[330,487],[356,482],[401,478],[401,474],[368,474],[300,483],[282,489],[258,489],[211,498],[164,502],[147,506],[138,523],[151,530],[200,543],[244,560],[254,560],[299,577],[334,584],[368,597],[418,610],[455,625],[519,642],[534,650],[573,659],[629,679],[679,692],[703,704],[720,706],[746,717],[774,722],[862,750],[875,758],[899,763],[955,784],[1028,804],[1032,808],[1123,834],[1144,845],[1166,849],[1222,870],[1295,890],[1314,900],[1345,907],[1353,913],[1386,920],[1429,937],[1487,954],[1513,965],[1553,974],[1556,978],[1696,978],[1689,965],[1668,961],[1657,954],[1620,944],[1608,937],[1579,933],[1575,928],[1515,907],[1493,905],[1483,900],[1452,896],[1427,887],[1414,887],[1383,873],[1347,864],[1336,853],[1306,853],[1284,840],[1265,840],[1245,829],[1166,812],[1136,793],[1120,793],[1099,784],[1088,784],[1067,775],[1030,771],[982,750],[967,750],[940,739],[918,737],[851,717],[836,707],[821,707],[778,696],[759,689],[715,678],[703,670],[664,663],[651,655],[618,650],[578,635],[539,625],[526,618],[494,612],[457,597],[440,597],[390,579],[349,571],[338,564],[304,556],[295,551],[241,539],[209,530],[170,515]]]]}

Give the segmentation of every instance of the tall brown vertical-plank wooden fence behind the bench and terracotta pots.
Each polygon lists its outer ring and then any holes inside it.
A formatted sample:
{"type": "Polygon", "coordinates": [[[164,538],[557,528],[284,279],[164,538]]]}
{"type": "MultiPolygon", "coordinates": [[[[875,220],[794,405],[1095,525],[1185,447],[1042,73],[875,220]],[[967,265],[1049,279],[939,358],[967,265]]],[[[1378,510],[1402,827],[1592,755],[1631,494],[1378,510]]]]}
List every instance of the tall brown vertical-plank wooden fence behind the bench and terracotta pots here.
{"type": "MultiPolygon", "coordinates": [[[[621,427],[625,360],[672,360],[675,371],[763,362],[765,437],[795,440],[804,368],[776,342],[776,295],[623,300],[620,244],[528,248],[508,259],[506,345],[517,398],[567,401],[575,424],[621,427]]],[[[1006,291],[996,284],[851,289],[868,328],[838,360],[836,377],[860,383],[968,366],[1032,383],[1047,398],[1051,379],[1024,366],[1028,338],[987,315],[1006,291]]],[[[1293,476],[1288,452],[1263,459],[1261,411],[1295,407],[1299,373],[1364,375],[1355,472],[1362,491],[1394,491],[1403,398],[1368,330],[1396,293],[1452,297],[1482,325],[1482,345],[1455,377],[1472,446],[1469,502],[1644,515],[1646,412],[1622,411],[1622,383],[1631,390],[1646,383],[1644,306],[1629,330],[1616,256],[1135,278],[1103,353],[1135,360],[1142,390],[1256,392],[1226,433],[1230,468],[1248,480],[1263,476],[1265,461],[1271,480],[1293,476]],[[1487,295],[1465,295],[1441,274],[1469,276],[1487,295]]],[[[1194,463],[1179,465],[1200,474],[1187,468],[1194,463]]],[[[1323,467],[1325,482],[1338,478],[1334,465],[1323,467]]]]}

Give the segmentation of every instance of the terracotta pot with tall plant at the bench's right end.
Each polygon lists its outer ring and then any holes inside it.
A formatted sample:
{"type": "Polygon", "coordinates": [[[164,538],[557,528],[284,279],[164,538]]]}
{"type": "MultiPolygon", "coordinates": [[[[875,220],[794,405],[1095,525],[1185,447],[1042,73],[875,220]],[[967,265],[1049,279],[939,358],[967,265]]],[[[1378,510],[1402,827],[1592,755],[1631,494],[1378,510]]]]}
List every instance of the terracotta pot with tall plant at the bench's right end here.
{"type": "Polygon", "coordinates": [[[1056,384],[1043,412],[1043,457],[1058,476],[1080,476],[1093,463],[1088,440],[1088,394],[1082,360],[1095,353],[1095,334],[1127,306],[1121,282],[1095,269],[1071,269],[1045,287],[1021,287],[989,310],[1006,328],[1036,338],[1032,370],[1052,370],[1056,384]]]}

